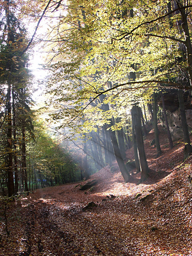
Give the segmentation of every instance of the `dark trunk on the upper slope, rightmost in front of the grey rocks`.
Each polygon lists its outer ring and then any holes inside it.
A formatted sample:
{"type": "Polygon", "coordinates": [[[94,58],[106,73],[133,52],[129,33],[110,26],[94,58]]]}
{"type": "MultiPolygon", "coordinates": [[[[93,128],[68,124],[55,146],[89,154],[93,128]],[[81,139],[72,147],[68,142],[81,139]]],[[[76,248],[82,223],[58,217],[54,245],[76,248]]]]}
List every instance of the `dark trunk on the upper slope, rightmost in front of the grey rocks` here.
{"type": "Polygon", "coordinates": [[[181,90],[181,89],[178,90],[178,96],[179,96],[180,117],[181,117],[181,122],[182,122],[184,141],[186,143],[185,149],[184,149],[185,150],[184,158],[186,159],[192,153],[192,145],[191,145],[188,126],[187,126],[187,122],[186,122],[185,105],[184,105],[184,100],[183,100],[183,90],[181,90]]]}

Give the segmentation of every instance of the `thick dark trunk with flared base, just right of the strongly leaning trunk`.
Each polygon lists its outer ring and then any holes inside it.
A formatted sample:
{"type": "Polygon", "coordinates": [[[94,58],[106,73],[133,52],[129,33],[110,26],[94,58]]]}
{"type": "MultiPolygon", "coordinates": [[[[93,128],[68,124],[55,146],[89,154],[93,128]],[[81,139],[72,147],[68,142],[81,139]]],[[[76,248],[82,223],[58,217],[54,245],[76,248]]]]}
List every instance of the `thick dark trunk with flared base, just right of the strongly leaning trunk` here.
{"type": "Polygon", "coordinates": [[[143,143],[140,108],[137,105],[134,105],[132,108],[132,113],[134,117],[134,130],[136,135],[138,158],[141,169],[141,182],[143,182],[148,176],[148,163],[146,160],[145,148],[143,143]]]}

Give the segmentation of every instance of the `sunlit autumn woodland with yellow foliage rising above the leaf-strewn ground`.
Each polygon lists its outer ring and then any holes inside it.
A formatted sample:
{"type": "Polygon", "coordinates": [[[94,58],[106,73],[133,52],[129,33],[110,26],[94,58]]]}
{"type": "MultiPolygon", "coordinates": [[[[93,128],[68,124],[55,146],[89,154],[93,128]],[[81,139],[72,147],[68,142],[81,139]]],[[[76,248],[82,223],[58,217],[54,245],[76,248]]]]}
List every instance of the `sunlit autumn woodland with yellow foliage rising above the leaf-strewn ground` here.
{"type": "Polygon", "coordinates": [[[3,195],[87,179],[115,159],[128,182],[124,159],[132,145],[143,182],[149,172],[143,136],[151,128],[161,155],[157,122],[166,127],[170,148],[183,139],[183,158],[189,156],[189,2],[0,4],[3,195]],[[38,81],[46,93],[41,112],[29,66],[37,45],[47,72],[38,81]]]}

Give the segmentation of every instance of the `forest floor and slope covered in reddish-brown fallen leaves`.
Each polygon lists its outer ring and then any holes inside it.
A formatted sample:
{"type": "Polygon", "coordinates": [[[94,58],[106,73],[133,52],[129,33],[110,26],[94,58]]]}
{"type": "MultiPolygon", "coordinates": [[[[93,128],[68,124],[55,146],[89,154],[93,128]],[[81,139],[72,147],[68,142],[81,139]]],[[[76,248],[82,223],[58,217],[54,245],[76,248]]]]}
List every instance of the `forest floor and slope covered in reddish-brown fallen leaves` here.
{"type": "MultiPolygon", "coordinates": [[[[190,256],[192,255],[192,156],[183,163],[183,143],[169,149],[160,132],[162,155],[145,138],[153,176],[124,184],[119,171],[101,169],[87,181],[48,187],[0,209],[0,256],[190,256]],[[113,195],[111,197],[111,195],[113,195]],[[84,209],[88,203],[97,206],[84,209]]],[[[133,149],[127,152],[133,158],[133,149]]]]}

